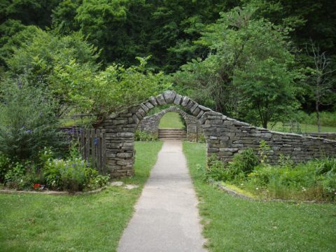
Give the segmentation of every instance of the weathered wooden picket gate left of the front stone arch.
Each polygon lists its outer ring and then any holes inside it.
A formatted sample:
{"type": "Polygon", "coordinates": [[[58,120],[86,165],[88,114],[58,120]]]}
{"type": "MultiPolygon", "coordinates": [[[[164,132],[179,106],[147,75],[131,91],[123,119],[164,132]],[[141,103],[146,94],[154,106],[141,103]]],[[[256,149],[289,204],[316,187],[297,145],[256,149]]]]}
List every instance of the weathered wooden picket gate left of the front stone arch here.
{"type": "Polygon", "coordinates": [[[80,130],[80,153],[99,173],[106,174],[106,131],[80,130]]]}

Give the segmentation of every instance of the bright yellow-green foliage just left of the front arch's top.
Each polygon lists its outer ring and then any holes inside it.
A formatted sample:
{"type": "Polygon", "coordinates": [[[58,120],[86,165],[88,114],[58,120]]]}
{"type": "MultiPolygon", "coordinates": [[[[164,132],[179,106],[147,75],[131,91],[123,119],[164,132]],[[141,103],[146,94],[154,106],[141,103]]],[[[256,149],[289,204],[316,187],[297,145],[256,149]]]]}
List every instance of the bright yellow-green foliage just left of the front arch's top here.
{"type": "Polygon", "coordinates": [[[53,81],[79,111],[102,120],[169,88],[162,72],[153,73],[146,69],[148,57],[137,59],[139,65],[125,68],[112,64],[95,73],[73,61],[57,68],[53,81]]]}

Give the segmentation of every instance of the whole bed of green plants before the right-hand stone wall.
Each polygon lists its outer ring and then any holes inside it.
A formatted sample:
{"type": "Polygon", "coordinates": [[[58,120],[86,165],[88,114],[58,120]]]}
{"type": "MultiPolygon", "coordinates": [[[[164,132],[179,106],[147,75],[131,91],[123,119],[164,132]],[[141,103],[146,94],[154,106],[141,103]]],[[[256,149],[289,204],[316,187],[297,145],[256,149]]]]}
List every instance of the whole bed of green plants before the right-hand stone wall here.
{"type": "Polygon", "coordinates": [[[270,165],[269,146],[262,142],[259,155],[246,149],[224,164],[209,158],[205,178],[225,181],[262,198],[283,200],[336,200],[336,158],[296,164],[288,156],[270,165]]]}

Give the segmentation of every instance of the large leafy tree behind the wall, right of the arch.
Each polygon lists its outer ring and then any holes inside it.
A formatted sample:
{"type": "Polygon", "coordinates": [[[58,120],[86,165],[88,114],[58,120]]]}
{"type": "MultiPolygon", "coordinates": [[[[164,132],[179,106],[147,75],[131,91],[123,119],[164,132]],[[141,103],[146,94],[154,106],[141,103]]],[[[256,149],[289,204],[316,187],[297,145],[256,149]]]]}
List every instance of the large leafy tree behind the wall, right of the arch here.
{"type": "Polygon", "coordinates": [[[208,57],[182,66],[175,80],[216,111],[267,127],[297,107],[293,87],[301,76],[292,69],[286,29],[254,13],[248,7],[221,13],[195,41],[211,50],[208,57]]]}

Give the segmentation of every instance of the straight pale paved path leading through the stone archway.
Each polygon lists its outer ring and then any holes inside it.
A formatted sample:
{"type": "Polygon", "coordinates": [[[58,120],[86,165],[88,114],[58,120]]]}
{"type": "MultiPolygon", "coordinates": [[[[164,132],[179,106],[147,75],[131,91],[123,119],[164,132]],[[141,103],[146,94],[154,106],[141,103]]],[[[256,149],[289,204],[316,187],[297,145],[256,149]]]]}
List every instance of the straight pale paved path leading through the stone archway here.
{"type": "Polygon", "coordinates": [[[206,251],[181,141],[165,141],[119,252],[206,251]]]}

